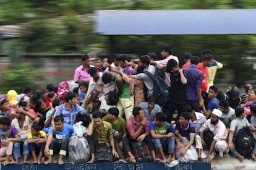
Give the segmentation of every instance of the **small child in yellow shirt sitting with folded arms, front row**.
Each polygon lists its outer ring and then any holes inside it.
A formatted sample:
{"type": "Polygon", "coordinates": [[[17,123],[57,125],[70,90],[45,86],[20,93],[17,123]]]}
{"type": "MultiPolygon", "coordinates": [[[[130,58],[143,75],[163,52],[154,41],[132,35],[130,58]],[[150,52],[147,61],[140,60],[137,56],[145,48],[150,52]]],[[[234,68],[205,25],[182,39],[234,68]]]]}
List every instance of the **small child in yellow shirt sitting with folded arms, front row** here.
{"type": "Polygon", "coordinates": [[[45,143],[47,140],[46,133],[40,130],[41,126],[38,123],[33,123],[31,132],[28,134],[28,146],[34,159],[34,164],[40,164],[45,150],[45,143]],[[36,150],[40,150],[38,158],[36,159],[36,150]]]}

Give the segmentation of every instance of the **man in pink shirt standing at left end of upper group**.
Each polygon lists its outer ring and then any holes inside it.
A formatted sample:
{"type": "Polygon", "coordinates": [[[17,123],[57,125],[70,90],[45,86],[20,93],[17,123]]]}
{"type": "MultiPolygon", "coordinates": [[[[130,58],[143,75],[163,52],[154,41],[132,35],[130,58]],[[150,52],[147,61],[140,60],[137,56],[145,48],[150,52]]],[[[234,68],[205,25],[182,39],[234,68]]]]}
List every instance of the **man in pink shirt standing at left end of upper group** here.
{"type": "Polygon", "coordinates": [[[92,77],[90,76],[90,74],[88,74],[87,70],[90,67],[94,67],[94,66],[90,65],[92,61],[93,61],[93,59],[90,58],[90,56],[88,56],[87,54],[83,54],[82,65],[77,67],[77,69],[75,69],[75,75],[74,75],[75,83],[80,83],[80,81],[85,81],[87,83],[90,82],[92,77]]]}

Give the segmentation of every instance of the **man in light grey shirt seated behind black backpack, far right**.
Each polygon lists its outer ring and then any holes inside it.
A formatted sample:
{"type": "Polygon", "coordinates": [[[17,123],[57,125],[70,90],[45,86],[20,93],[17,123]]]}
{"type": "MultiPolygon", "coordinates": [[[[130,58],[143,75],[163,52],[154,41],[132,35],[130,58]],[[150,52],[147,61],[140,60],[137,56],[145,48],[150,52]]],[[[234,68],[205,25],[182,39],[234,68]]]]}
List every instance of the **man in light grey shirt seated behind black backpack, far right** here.
{"type": "MultiPolygon", "coordinates": [[[[250,123],[246,119],[246,117],[245,117],[246,110],[244,107],[237,106],[235,109],[235,113],[236,113],[236,119],[233,119],[230,124],[228,147],[229,147],[229,150],[231,151],[231,153],[233,154],[233,156],[242,162],[242,160],[244,159],[244,156],[242,156],[241,153],[237,152],[236,146],[234,145],[234,143],[236,142],[237,133],[243,127],[249,127],[249,129],[252,132],[256,132],[256,128],[253,127],[252,125],[250,125],[250,123]]],[[[255,155],[255,153],[256,153],[256,151],[253,152],[254,155],[255,155]]]]}

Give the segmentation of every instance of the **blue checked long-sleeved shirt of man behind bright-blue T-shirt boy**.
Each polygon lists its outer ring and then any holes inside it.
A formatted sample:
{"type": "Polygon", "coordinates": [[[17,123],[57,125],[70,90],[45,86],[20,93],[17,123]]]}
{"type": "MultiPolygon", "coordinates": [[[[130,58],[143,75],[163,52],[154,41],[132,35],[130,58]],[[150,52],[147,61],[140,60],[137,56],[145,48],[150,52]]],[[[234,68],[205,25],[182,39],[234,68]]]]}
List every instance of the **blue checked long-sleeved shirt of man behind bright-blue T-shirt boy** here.
{"type": "Polygon", "coordinates": [[[71,110],[68,111],[66,108],[66,104],[61,104],[61,106],[56,107],[56,111],[53,115],[53,119],[56,116],[62,116],[64,118],[64,124],[74,124],[75,117],[77,114],[86,114],[85,109],[81,108],[79,104],[73,105],[71,110]]]}

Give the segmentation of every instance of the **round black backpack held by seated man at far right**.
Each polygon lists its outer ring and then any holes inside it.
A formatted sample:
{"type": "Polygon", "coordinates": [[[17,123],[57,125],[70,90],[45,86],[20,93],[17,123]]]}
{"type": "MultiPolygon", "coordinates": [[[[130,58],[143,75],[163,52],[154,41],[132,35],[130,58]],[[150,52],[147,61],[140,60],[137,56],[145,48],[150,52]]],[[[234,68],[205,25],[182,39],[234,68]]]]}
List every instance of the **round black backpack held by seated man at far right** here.
{"type": "Polygon", "coordinates": [[[237,132],[235,141],[236,150],[244,158],[250,158],[254,149],[254,135],[249,127],[243,127],[237,132]]]}

